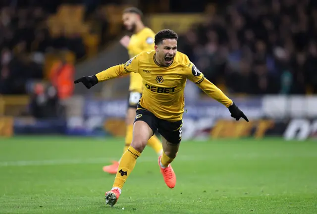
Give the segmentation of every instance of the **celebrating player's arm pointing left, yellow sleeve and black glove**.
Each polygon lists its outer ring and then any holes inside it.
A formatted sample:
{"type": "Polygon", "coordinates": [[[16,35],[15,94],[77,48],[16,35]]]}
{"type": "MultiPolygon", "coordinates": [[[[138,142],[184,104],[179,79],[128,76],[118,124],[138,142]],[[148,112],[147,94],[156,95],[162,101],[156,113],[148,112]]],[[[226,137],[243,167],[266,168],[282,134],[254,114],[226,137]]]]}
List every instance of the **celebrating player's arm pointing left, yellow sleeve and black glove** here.
{"type": "Polygon", "coordinates": [[[119,64],[119,65],[112,66],[112,67],[110,67],[102,72],[99,72],[96,75],[83,76],[79,79],[76,79],[74,81],[74,83],[77,84],[77,83],[81,82],[84,84],[84,86],[86,86],[86,88],[90,89],[91,87],[93,87],[94,85],[96,85],[99,82],[103,82],[103,81],[106,81],[109,79],[123,76],[127,73],[130,73],[130,72],[137,72],[138,71],[138,60],[135,58],[136,58],[136,56],[131,58],[125,64],[119,64]],[[135,60],[133,60],[133,59],[135,59],[135,60]]]}

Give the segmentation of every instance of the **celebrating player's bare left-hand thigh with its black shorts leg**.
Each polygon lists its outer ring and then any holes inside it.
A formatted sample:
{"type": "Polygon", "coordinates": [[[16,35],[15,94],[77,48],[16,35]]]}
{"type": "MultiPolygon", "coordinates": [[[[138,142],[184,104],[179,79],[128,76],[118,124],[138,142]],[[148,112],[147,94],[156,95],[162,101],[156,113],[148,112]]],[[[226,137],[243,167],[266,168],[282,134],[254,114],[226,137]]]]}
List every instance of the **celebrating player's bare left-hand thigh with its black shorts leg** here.
{"type": "Polygon", "coordinates": [[[148,140],[158,129],[157,118],[150,111],[138,109],[133,125],[131,146],[139,152],[146,147],[148,140]]]}

